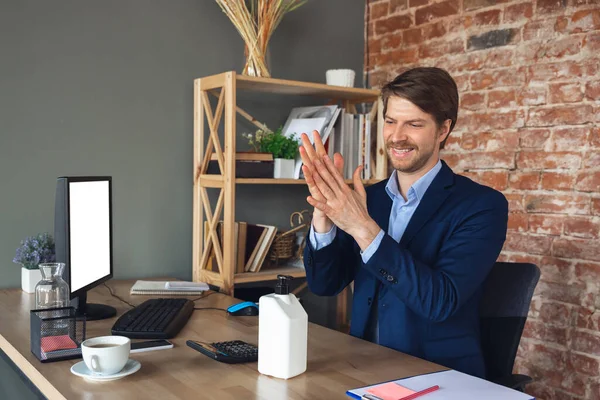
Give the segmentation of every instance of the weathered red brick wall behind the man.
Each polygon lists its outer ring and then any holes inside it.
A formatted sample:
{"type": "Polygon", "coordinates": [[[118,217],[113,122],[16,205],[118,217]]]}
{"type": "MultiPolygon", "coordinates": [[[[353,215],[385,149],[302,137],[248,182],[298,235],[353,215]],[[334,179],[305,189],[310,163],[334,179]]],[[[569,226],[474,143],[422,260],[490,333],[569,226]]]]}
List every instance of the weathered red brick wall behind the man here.
{"type": "Polygon", "coordinates": [[[417,66],[461,93],[443,158],[510,203],[501,259],[542,270],[516,371],[600,399],[600,1],[368,0],[370,86],[417,66]]]}

